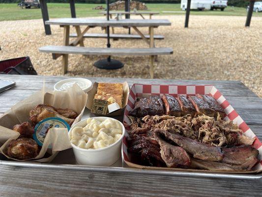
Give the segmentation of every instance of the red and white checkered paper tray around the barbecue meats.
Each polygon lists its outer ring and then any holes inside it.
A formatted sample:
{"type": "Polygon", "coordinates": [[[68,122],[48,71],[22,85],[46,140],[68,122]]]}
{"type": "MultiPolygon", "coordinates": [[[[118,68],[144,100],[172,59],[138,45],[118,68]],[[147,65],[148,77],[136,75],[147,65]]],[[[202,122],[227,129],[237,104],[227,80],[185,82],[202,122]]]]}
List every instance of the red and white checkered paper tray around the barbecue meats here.
{"type": "MultiPolygon", "coordinates": [[[[259,160],[260,162],[253,167],[253,170],[262,170],[262,143],[258,137],[254,134],[253,131],[248,127],[248,125],[243,121],[243,119],[238,115],[234,110],[232,105],[223,97],[223,95],[213,86],[213,85],[143,85],[143,84],[134,84],[129,93],[129,98],[127,106],[124,112],[124,123],[130,124],[130,120],[127,117],[129,111],[134,108],[135,100],[141,97],[148,97],[150,95],[163,95],[169,94],[174,97],[177,95],[211,95],[214,97],[221,107],[226,112],[226,117],[224,120],[232,120],[233,123],[237,124],[238,128],[244,132],[244,135],[255,138],[253,147],[259,150],[259,160]]],[[[126,128],[128,129],[128,128],[126,128]]],[[[127,152],[127,142],[126,138],[128,137],[127,132],[125,133],[123,144],[122,144],[122,157],[124,161],[131,162],[129,154],[127,152]]]]}

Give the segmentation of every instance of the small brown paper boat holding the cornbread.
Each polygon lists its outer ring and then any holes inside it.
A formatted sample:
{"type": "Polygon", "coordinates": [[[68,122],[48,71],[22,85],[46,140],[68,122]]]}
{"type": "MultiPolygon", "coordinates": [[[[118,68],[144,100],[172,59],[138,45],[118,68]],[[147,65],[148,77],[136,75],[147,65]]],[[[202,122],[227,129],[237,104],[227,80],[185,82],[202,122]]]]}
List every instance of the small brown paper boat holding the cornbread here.
{"type": "MultiPolygon", "coordinates": [[[[123,100],[122,100],[122,108],[118,109],[116,111],[113,111],[111,113],[107,113],[106,116],[120,116],[123,114],[125,106],[127,105],[128,96],[129,96],[129,86],[128,83],[125,81],[123,84],[123,100]]],[[[88,92],[88,98],[87,98],[87,108],[91,110],[94,96],[97,92],[98,82],[93,83],[92,89],[88,92]]]]}

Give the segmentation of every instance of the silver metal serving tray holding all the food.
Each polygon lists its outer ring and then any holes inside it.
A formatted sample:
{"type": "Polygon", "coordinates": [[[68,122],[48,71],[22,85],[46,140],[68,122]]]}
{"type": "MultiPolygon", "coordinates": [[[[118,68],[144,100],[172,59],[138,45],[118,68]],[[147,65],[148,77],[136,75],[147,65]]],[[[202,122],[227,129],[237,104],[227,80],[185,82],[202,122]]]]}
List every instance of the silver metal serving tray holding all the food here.
{"type": "MultiPolygon", "coordinates": [[[[90,110],[86,108],[82,119],[94,117],[90,110]]],[[[122,116],[115,116],[119,121],[122,121],[122,116]]],[[[119,172],[119,173],[140,173],[140,174],[159,174],[166,176],[184,176],[184,177],[207,177],[207,178],[231,178],[231,179],[262,179],[262,173],[259,174],[236,174],[236,173],[218,173],[218,172],[191,172],[179,170],[157,170],[157,169],[140,169],[128,167],[120,157],[118,161],[111,166],[90,166],[79,165],[75,161],[72,149],[60,151],[57,157],[49,164],[38,162],[15,162],[6,159],[0,155],[0,164],[8,166],[20,167],[36,167],[36,168],[51,168],[51,169],[70,169],[83,170],[94,172],[119,172]]]]}

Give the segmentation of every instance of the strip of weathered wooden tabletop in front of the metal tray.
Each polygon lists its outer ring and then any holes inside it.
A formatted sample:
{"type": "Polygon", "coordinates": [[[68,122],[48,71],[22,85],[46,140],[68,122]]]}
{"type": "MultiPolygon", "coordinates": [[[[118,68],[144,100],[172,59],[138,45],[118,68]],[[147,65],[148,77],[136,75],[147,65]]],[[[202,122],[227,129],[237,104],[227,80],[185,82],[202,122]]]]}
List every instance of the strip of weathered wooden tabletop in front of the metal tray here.
{"type": "Polygon", "coordinates": [[[189,178],[0,166],[1,196],[259,197],[262,180],[189,178]],[[10,174],[13,174],[10,176],[10,174]]]}

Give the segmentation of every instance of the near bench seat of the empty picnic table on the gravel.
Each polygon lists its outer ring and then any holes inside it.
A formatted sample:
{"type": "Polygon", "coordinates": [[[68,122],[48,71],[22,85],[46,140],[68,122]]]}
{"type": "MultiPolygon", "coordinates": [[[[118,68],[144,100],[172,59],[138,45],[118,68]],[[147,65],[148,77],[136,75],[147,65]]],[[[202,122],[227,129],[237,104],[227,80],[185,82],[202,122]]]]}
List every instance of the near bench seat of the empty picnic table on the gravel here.
{"type": "Polygon", "coordinates": [[[43,46],[39,48],[43,53],[54,54],[82,54],[82,55],[113,55],[113,56],[145,56],[170,55],[172,48],[89,48],[74,46],[43,46]]]}

